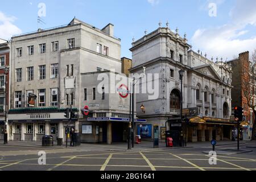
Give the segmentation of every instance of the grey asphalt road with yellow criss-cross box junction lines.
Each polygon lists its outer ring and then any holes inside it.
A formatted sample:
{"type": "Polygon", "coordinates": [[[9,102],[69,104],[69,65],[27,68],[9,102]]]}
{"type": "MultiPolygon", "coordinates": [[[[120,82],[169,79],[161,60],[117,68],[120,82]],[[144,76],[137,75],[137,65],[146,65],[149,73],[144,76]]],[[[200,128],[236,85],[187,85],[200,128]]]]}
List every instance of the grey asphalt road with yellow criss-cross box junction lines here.
{"type": "MultiPolygon", "coordinates": [[[[219,146],[218,150],[235,146],[219,146]]],[[[245,146],[241,146],[245,149],[245,146]]],[[[39,165],[38,148],[0,146],[0,151],[30,150],[33,155],[0,156],[3,171],[256,171],[256,148],[252,152],[217,155],[217,164],[209,164],[209,147],[152,150],[141,152],[58,152],[46,154],[39,165]]],[[[40,148],[40,150],[44,148],[40,148]]],[[[247,148],[248,150],[248,148],[247,148]]]]}

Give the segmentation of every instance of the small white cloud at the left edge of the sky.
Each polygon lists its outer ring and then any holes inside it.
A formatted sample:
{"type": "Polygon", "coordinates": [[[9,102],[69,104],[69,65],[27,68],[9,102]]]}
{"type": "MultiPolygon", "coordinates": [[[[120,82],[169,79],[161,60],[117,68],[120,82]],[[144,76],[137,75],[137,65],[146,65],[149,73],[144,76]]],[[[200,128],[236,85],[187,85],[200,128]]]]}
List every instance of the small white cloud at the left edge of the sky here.
{"type": "Polygon", "coordinates": [[[10,39],[15,34],[21,34],[22,31],[13,24],[16,20],[14,16],[6,16],[0,11],[0,38],[10,39]]]}

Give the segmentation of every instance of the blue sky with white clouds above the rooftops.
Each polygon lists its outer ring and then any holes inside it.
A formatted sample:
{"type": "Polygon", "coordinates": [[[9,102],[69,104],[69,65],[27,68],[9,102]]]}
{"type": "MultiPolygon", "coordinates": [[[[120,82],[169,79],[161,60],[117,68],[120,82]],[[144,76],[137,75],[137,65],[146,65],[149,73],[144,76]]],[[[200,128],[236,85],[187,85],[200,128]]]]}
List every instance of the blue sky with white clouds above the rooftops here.
{"type": "Polygon", "coordinates": [[[170,28],[187,33],[193,49],[200,49],[208,58],[228,57],[256,48],[255,0],[9,0],[0,7],[0,38],[38,29],[39,3],[46,5],[45,25],[41,28],[68,24],[74,16],[98,28],[114,24],[114,34],[122,39],[122,56],[130,57],[133,37],[154,31],[159,20],[170,28]],[[209,16],[208,6],[215,3],[216,16],[209,16]]]}

